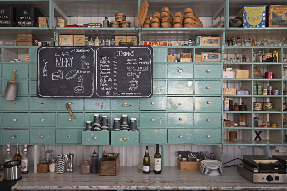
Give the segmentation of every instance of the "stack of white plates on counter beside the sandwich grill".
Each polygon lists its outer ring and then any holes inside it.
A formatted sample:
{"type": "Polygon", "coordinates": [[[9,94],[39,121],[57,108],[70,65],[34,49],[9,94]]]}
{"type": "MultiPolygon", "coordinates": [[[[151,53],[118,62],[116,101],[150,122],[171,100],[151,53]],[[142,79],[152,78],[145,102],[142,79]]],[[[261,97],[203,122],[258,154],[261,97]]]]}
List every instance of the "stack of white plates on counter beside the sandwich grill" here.
{"type": "Polygon", "coordinates": [[[202,160],[200,162],[200,172],[208,176],[223,174],[222,163],[218,160],[202,160]]]}

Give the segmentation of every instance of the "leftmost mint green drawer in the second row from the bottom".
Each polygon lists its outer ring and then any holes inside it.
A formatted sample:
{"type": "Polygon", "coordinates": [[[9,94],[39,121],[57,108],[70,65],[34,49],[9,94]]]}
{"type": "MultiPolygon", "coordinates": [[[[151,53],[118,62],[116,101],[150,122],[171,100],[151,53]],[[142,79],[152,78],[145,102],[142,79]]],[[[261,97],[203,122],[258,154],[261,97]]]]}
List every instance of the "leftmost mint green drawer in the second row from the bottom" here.
{"type": "Polygon", "coordinates": [[[28,113],[3,113],[3,127],[28,127],[28,113]]]}

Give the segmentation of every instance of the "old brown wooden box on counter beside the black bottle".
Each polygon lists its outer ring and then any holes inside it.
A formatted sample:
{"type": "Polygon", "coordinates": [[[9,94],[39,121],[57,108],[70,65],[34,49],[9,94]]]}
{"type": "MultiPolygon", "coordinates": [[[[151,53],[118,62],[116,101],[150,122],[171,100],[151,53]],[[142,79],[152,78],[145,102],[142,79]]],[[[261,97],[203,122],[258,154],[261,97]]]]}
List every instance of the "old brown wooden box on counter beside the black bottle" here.
{"type": "Polygon", "coordinates": [[[115,160],[110,160],[110,157],[102,157],[100,159],[100,176],[117,176],[119,169],[119,153],[117,153],[115,160]]]}

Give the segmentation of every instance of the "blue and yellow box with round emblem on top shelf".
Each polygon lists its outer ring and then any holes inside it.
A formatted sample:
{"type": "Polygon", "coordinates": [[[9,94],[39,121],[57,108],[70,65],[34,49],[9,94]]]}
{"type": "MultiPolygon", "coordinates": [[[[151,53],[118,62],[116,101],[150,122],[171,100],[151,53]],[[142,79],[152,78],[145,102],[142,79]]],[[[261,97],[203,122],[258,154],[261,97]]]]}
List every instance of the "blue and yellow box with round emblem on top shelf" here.
{"type": "Polygon", "coordinates": [[[243,5],[236,12],[236,17],[243,18],[243,27],[265,27],[266,5],[243,5]]]}

